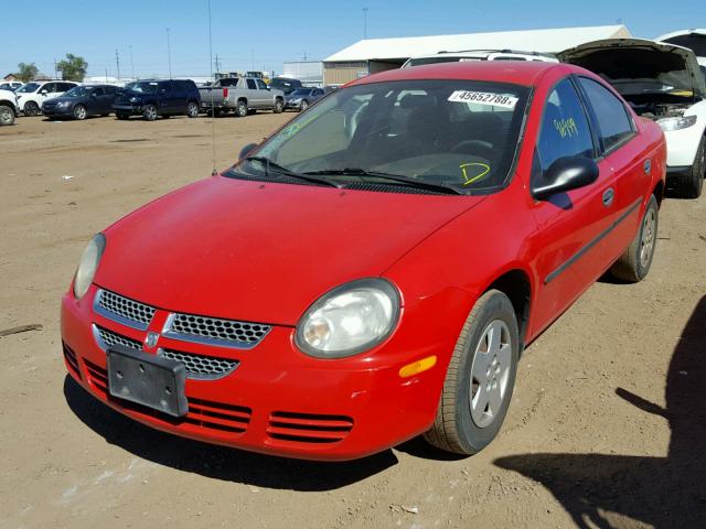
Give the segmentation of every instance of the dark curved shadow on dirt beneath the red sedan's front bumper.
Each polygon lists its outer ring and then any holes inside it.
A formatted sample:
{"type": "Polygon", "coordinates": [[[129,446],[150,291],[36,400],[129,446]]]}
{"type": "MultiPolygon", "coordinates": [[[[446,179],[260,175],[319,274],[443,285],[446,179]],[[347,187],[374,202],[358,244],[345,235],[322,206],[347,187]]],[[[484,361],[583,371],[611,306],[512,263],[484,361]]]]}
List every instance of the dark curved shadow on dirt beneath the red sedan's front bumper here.
{"type": "Polygon", "coordinates": [[[128,419],[88,395],[68,375],[64,397],[88,428],[121,449],[160,465],[247,485],[293,490],[331,490],[360,482],[397,463],[391,450],[352,462],[309,462],[244,452],[167,434],[128,419]]]}

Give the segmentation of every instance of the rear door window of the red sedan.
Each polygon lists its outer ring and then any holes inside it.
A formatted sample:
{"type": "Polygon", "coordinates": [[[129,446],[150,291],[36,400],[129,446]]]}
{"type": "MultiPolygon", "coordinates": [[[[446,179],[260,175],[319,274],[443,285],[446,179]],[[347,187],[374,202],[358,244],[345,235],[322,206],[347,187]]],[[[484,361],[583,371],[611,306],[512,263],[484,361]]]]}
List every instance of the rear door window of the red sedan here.
{"type": "Polygon", "coordinates": [[[593,79],[579,77],[578,82],[596,115],[603,150],[609,151],[625,138],[630,138],[634,128],[622,101],[593,79]]]}

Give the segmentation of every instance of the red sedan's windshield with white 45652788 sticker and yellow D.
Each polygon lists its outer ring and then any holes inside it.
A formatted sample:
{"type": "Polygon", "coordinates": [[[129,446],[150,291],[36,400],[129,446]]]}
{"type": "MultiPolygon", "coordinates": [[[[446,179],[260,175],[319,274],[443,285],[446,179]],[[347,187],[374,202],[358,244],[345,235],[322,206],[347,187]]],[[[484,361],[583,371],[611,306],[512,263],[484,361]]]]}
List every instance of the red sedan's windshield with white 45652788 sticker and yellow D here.
{"type": "MultiPolygon", "coordinates": [[[[461,192],[488,190],[509,176],[528,91],[473,80],[352,86],[293,119],[256,154],[342,183],[387,173],[461,192]]],[[[245,160],[238,170],[253,174],[263,164],[245,160]]]]}

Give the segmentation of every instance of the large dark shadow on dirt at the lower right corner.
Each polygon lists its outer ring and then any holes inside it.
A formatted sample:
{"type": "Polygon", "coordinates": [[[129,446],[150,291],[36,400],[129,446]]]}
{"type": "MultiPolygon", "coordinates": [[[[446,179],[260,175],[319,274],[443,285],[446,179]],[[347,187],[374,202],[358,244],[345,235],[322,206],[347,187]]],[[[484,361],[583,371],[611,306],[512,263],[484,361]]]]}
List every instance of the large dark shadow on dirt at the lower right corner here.
{"type": "Polygon", "coordinates": [[[706,296],[672,356],[666,409],[622,388],[616,393],[668,421],[666,457],[538,453],[494,463],[543,484],[579,527],[621,527],[611,512],[657,528],[706,527],[706,296]]]}

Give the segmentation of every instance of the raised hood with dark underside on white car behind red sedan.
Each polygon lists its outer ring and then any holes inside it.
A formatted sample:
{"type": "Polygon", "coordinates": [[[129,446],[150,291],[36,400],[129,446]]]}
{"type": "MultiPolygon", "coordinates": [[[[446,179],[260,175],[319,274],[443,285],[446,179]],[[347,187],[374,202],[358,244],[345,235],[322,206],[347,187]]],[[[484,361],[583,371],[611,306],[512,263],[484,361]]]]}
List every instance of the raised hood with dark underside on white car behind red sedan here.
{"type": "Polygon", "coordinates": [[[630,82],[657,80],[672,87],[671,93],[706,98],[706,84],[696,55],[675,44],[642,39],[606,39],[565,50],[557,56],[564,63],[600,75],[621,94],[621,86],[628,86],[630,82]]]}

